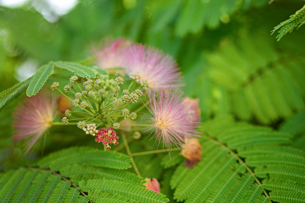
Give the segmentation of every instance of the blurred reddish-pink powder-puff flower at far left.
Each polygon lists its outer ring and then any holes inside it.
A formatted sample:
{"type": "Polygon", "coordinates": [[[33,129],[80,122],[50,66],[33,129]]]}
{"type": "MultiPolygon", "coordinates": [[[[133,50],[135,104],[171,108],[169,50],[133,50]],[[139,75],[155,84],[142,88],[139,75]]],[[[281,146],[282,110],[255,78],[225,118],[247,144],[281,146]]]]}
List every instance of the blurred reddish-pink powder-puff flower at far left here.
{"type": "Polygon", "coordinates": [[[53,120],[57,114],[55,111],[56,99],[50,98],[47,89],[42,89],[38,94],[26,97],[20,103],[20,107],[16,108],[13,113],[14,141],[20,141],[30,138],[27,142],[25,153],[33,147],[34,144],[46,135],[51,128],[53,120]]]}

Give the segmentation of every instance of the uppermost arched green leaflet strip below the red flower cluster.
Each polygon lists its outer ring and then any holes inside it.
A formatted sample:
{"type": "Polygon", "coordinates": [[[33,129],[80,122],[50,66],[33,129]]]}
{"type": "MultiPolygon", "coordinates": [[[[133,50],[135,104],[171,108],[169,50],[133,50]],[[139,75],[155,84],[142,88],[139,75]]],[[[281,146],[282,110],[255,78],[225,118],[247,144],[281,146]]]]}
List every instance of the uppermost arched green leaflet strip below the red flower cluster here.
{"type": "Polygon", "coordinates": [[[71,147],[53,152],[42,158],[38,164],[42,168],[51,168],[53,171],[76,163],[87,163],[93,166],[102,166],[114,169],[130,168],[131,159],[119,152],[106,152],[90,147],[71,147]]]}

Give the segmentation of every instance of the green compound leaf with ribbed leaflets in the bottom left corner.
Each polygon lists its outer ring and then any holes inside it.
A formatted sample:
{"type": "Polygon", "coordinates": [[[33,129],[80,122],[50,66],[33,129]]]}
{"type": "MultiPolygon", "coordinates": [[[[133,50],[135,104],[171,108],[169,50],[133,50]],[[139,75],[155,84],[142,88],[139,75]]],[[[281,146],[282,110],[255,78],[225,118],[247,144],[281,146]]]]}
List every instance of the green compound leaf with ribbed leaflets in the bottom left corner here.
{"type": "Polygon", "coordinates": [[[4,202],[64,202],[74,203],[87,197],[80,197],[79,189],[70,187],[70,181],[43,170],[12,170],[2,174],[0,190],[4,202]],[[5,181],[5,182],[4,182],[5,181]]]}

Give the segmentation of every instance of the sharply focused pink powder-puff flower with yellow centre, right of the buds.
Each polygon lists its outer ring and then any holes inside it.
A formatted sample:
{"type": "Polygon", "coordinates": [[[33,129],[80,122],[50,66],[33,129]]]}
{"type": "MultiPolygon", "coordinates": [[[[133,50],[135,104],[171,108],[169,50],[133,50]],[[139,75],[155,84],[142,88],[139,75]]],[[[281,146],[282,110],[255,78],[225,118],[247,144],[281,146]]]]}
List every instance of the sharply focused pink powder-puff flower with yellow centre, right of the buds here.
{"type": "MultiPolygon", "coordinates": [[[[178,90],[172,92],[169,89],[161,89],[159,93],[149,91],[148,110],[150,114],[145,114],[142,119],[147,121],[145,132],[154,131],[152,138],[159,139],[170,154],[172,146],[174,148],[183,145],[186,139],[199,137],[199,118],[191,121],[190,113],[182,101],[183,93],[178,90]]],[[[151,139],[152,139],[151,138],[151,139]]]]}

